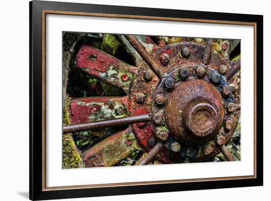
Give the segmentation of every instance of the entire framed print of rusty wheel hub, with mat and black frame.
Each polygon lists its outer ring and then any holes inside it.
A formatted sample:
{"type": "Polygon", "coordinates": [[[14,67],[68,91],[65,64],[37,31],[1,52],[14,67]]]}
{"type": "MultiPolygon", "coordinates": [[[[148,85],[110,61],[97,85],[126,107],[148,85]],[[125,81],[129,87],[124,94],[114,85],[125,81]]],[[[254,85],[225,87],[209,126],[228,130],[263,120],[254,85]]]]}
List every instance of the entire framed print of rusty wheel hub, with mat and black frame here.
{"type": "Polygon", "coordinates": [[[30,199],[263,185],[263,16],[30,2],[30,199]]]}

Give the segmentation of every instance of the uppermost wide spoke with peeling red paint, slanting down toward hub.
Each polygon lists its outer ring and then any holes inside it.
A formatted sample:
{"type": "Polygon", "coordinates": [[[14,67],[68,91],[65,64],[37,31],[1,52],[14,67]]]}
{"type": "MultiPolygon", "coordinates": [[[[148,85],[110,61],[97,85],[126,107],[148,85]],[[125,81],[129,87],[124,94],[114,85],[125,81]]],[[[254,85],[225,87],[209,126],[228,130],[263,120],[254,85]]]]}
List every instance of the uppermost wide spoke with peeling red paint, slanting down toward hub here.
{"type": "Polygon", "coordinates": [[[83,44],[76,55],[77,66],[97,79],[129,92],[137,67],[92,46],[83,44]]]}

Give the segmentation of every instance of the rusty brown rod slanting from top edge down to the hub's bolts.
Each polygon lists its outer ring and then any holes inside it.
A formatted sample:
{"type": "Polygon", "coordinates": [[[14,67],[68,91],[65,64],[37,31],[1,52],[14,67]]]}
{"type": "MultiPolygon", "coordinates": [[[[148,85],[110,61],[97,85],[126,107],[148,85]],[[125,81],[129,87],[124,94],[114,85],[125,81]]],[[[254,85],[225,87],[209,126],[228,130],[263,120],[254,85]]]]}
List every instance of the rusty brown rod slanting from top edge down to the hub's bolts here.
{"type": "Polygon", "coordinates": [[[152,68],[154,73],[162,79],[165,77],[160,65],[157,64],[154,59],[149,55],[143,45],[135,38],[134,35],[125,35],[127,40],[133,45],[138,54],[145,60],[145,62],[152,68]]]}

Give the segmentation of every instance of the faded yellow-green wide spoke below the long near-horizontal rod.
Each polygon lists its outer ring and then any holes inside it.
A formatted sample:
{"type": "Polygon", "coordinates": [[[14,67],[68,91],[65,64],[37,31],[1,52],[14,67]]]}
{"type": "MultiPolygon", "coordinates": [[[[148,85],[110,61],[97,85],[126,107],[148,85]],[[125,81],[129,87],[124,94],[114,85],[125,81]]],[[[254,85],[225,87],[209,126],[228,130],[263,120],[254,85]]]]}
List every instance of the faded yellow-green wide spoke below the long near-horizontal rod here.
{"type": "Polygon", "coordinates": [[[141,147],[136,141],[133,129],[112,134],[83,152],[86,167],[109,167],[121,162],[141,147]]]}

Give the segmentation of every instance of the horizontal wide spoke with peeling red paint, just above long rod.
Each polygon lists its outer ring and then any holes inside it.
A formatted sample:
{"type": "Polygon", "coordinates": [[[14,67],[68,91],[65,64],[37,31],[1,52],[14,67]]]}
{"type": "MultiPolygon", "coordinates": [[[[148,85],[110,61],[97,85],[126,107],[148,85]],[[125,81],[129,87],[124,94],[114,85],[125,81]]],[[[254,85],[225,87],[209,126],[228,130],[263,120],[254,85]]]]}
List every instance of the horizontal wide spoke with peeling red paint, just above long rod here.
{"type": "Polygon", "coordinates": [[[127,101],[127,96],[74,98],[69,107],[71,124],[125,117],[127,101]]]}

